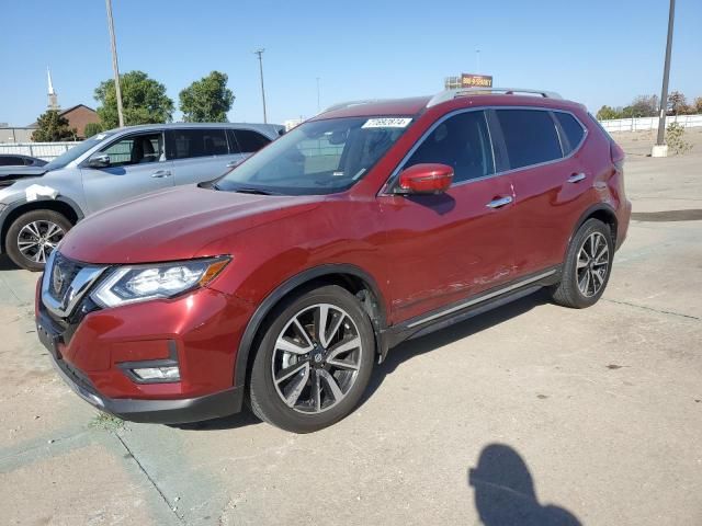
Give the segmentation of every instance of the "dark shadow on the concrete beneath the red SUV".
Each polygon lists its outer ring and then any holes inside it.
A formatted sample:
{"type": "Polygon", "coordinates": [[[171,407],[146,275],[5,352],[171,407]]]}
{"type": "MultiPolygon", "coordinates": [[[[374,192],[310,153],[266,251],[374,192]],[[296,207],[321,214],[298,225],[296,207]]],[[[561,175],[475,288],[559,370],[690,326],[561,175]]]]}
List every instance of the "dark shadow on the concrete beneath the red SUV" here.
{"type": "MultiPolygon", "coordinates": [[[[369,386],[366,387],[356,409],[363,405],[373,396],[373,393],[381,387],[387,375],[393,373],[405,362],[435,348],[449,345],[457,340],[478,333],[485,329],[489,329],[490,327],[499,325],[505,321],[530,311],[534,307],[550,301],[551,298],[548,297],[547,291],[545,289],[541,289],[498,309],[485,312],[476,316],[475,318],[471,318],[466,321],[416,340],[410,340],[399,344],[389,351],[386,359],[382,364],[374,367],[369,386]]],[[[177,424],[173,426],[189,431],[218,431],[245,427],[260,422],[261,421],[253,415],[245,404],[240,413],[233,414],[230,416],[208,420],[205,422],[196,422],[193,424],[177,424]]]]}

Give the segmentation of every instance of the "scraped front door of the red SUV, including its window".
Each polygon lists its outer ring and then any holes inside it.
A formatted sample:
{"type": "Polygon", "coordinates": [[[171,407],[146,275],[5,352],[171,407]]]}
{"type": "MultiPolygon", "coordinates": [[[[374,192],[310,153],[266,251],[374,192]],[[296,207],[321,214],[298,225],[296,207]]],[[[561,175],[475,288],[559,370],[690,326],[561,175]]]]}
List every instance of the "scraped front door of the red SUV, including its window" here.
{"type": "Polygon", "coordinates": [[[512,188],[496,174],[484,111],[438,122],[400,167],[454,169],[440,195],[381,195],[393,322],[423,316],[512,277],[512,188]]]}

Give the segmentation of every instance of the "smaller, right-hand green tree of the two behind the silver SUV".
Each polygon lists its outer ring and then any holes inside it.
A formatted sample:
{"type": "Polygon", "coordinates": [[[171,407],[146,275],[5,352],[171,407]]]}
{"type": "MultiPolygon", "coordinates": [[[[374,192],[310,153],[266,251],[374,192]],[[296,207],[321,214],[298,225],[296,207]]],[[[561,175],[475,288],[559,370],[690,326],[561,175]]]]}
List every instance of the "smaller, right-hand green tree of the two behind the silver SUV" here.
{"type": "Polygon", "coordinates": [[[180,110],[186,123],[226,123],[234,93],[227,88],[228,77],[212,71],[180,92],[180,110]]]}

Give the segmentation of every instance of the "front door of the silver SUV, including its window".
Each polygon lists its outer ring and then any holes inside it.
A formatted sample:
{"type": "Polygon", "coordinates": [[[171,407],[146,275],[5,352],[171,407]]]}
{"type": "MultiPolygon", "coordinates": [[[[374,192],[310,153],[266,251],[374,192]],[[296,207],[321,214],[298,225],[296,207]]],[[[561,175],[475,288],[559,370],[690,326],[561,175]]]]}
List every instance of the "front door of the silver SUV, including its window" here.
{"type": "Polygon", "coordinates": [[[123,136],[100,152],[110,157],[109,167],[80,169],[89,213],[173,185],[161,129],[123,136]]]}

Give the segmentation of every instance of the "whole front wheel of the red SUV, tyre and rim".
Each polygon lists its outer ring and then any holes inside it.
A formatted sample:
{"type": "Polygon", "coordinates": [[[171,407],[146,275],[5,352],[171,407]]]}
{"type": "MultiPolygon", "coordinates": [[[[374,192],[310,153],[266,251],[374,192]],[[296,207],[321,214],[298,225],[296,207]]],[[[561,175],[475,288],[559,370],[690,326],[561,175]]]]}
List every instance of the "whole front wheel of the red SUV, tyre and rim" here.
{"type": "Polygon", "coordinates": [[[275,309],[251,370],[251,410],[294,433],[331,425],[356,405],[373,369],[375,339],[358,299],[336,285],[275,309]]]}

